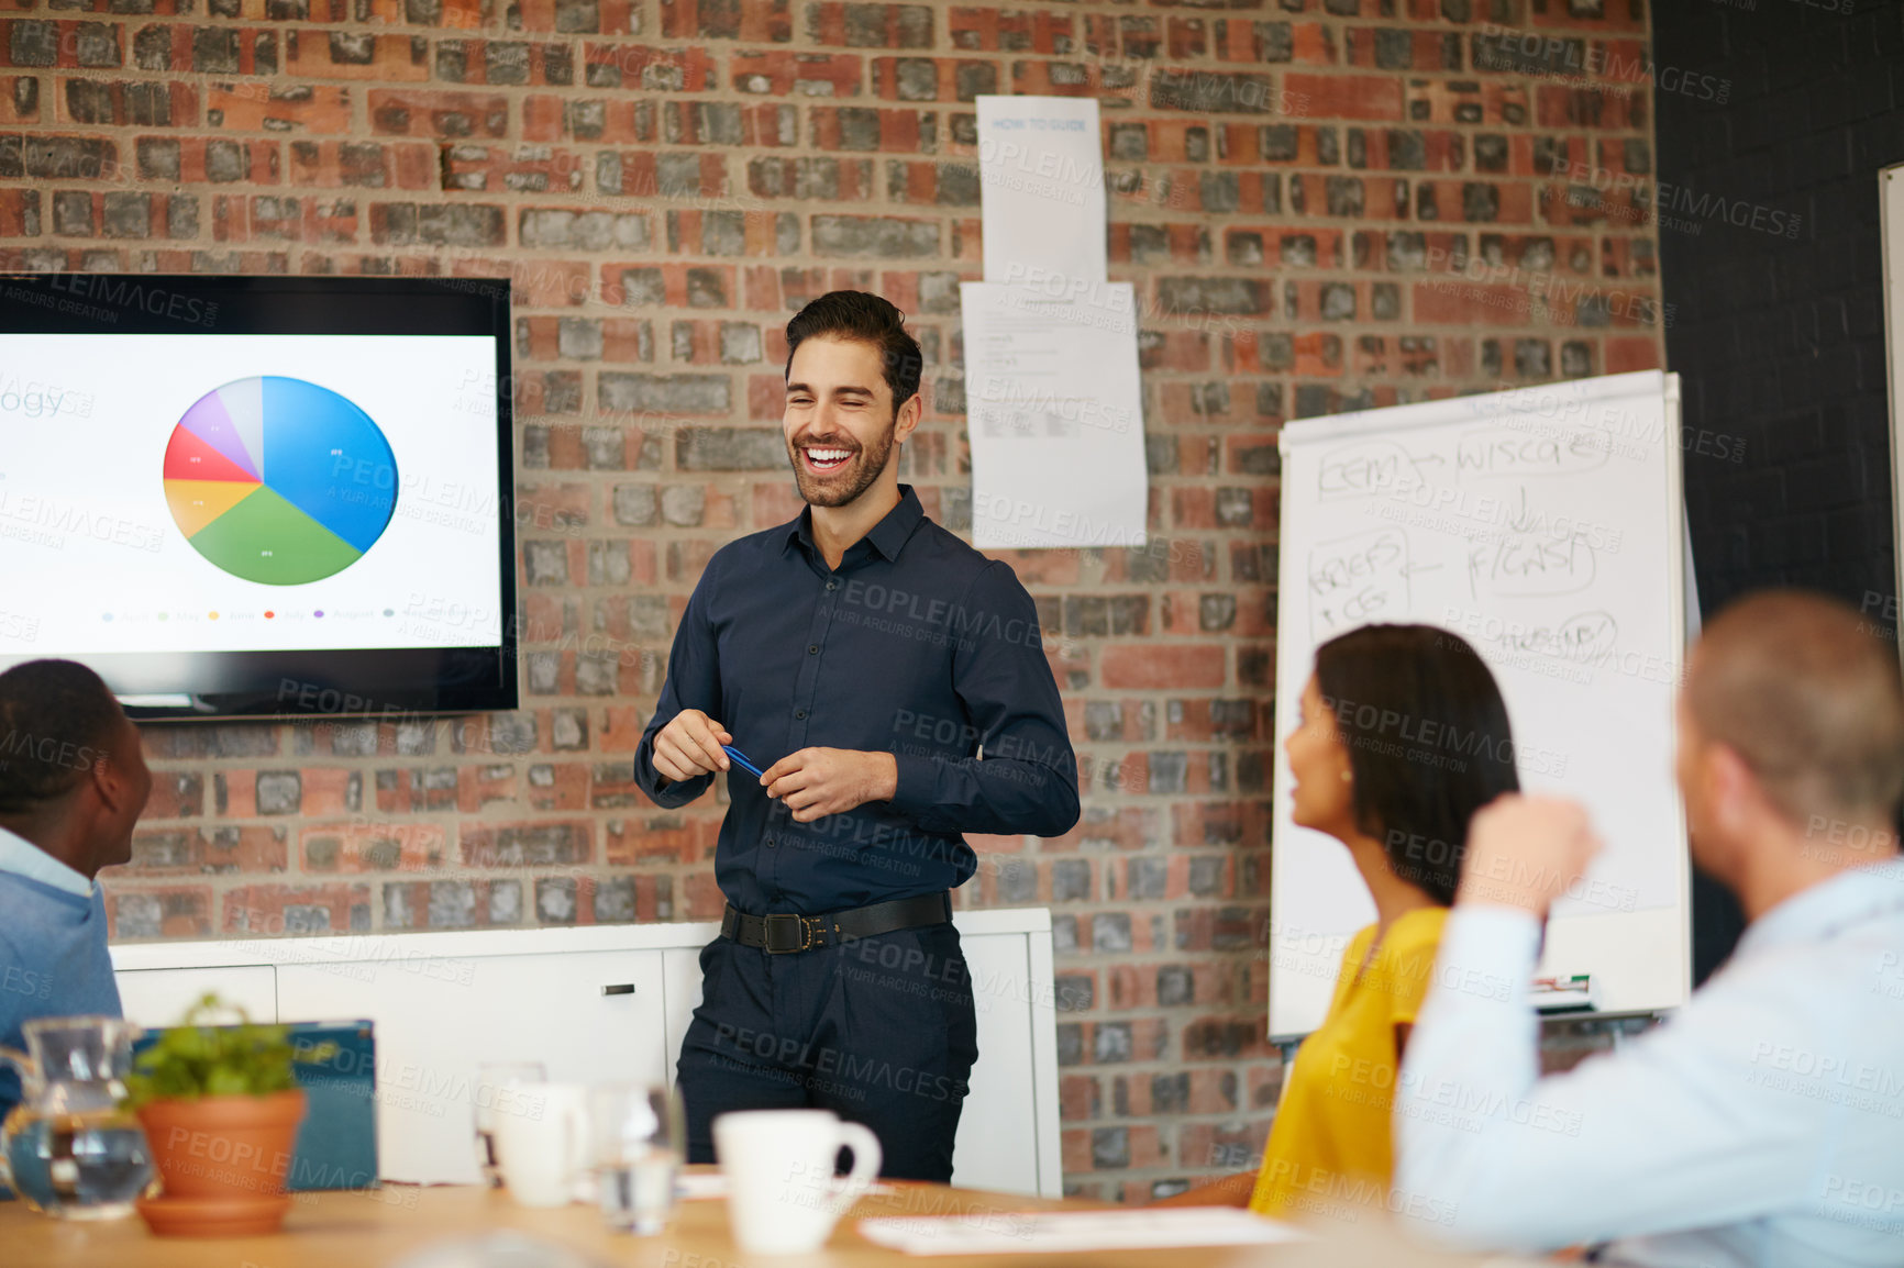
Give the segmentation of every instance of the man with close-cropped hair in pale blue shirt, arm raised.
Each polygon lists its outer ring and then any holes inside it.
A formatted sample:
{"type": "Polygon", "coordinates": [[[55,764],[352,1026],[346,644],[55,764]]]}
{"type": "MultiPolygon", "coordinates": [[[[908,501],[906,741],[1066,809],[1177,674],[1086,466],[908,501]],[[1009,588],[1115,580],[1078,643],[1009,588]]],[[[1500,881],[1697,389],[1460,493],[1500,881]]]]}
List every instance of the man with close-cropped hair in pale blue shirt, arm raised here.
{"type": "Polygon", "coordinates": [[[1693,859],[1750,927],[1676,1017],[1554,1078],[1525,984],[1597,842],[1557,798],[1476,815],[1396,1089],[1396,1194],[1451,1209],[1420,1230],[1462,1245],[1904,1264],[1896,649],[1832,600],[1735,604],[1691,657],[1677,779],[1693,859]],[[1462,992],[1468,973],[1514,986],[1462,992]]]}

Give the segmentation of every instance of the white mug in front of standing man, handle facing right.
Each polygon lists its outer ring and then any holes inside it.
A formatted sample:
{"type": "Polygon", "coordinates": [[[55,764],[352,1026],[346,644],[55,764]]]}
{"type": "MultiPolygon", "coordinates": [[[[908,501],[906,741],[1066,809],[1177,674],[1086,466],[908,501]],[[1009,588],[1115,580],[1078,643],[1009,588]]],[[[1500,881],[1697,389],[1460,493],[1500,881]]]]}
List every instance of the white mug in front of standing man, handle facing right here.
{"type": "Polygon", "coordinates": [[[832,1110],[744,1110],[714,1119],[733,1239],[756,1255],[819,1249],[880,1175],[880,1139],[832,1110]],[[853,1171],[836,1175],[840,1148],[853,1171]]]}

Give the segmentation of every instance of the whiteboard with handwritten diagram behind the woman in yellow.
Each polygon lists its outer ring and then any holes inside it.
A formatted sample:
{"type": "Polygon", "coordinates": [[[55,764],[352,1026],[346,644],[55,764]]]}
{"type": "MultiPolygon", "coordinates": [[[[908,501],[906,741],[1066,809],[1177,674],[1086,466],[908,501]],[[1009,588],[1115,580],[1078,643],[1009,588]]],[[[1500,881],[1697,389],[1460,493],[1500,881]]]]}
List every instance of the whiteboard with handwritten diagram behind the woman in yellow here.
{"type": "Polygon", "coordinates": [[[1270,1036],[1321,1022],[1342,948],[1375,920],[1340,842],[1289,821],[1279,744],[1316,647],[1373,621],[1466,638],[1508,703],[1521,786],[1594,813],[1605,849],[1556,904],[1540,971],[1590,973],[1607,1013],[1681,1003],[1677,379],[1607,375],[1299,421],[1281,455],[1270,1036]]]}

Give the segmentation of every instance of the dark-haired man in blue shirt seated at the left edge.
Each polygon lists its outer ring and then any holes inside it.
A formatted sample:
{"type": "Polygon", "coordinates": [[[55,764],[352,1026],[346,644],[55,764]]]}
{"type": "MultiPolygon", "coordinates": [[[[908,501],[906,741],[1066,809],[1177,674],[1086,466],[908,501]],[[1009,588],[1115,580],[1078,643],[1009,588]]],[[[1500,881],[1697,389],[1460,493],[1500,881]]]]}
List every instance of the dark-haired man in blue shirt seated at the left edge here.
{"type": "MultiPolygon", "coordinates": [[[[120,1017],[99,868],[152,792],[139,729],[84,664],[0,674],[0,1045],[34,1017],[120,1017]]],[[[0,1118],[19,1100],[0,1068],[0,1118]]],[[[0,1190],[4,1192],[4,1190],[0,1190]]]]}

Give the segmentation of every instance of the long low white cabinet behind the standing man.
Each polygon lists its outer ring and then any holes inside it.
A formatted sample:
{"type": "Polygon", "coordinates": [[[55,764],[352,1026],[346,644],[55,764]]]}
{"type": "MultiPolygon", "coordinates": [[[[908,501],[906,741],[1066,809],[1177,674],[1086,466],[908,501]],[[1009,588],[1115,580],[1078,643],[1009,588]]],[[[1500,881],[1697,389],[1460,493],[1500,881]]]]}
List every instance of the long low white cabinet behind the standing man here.
{"type": "MultiPolygon", "coordinates": [[[[954,1180],[1062,1192],[1051,914],[958,918],[979,1064],[954,1180]]],[[[253,1020],[377,1024],[377,1150],[388,1180],[474,1182],[470,1085],[487,1060],[564,1081],[674,1080],[712,923],[484,929],[112,948],[126,1017],[166,1026],[208,990],[253,1020]]]]}

